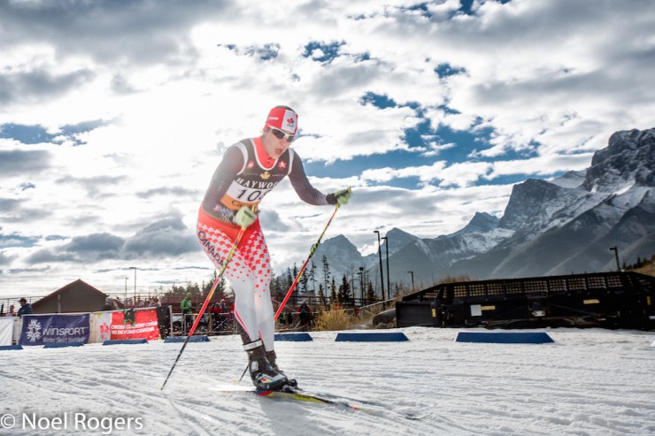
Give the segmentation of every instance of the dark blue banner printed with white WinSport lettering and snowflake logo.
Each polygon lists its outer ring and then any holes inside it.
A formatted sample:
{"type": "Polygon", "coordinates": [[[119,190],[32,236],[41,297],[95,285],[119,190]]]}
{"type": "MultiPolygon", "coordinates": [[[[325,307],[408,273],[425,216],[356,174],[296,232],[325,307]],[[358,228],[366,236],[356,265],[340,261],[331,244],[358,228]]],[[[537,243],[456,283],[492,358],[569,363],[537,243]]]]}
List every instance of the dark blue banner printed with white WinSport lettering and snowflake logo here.
{"type": "Polygon", "coordinates": [[[62,342],[89,343],[89,314],[26,315],[20,331],[20,345],[62,342]]]}

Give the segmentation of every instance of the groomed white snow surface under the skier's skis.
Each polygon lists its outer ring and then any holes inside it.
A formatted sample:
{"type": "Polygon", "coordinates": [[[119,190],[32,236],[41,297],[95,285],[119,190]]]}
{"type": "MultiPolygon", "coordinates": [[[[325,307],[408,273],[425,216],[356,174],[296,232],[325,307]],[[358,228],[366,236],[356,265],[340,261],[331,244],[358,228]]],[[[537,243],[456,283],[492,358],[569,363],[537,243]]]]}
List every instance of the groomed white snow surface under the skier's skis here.
{"type": "Polygon", "coordinates": [[[456,342],[460,331],[487,332],[411,327],[393,330],[405,342],[336,342],[335,332],[277,342],[281,368],[305,389],[389,406],[378,413],[240,392],[250,381],[236,382],[238,336],[189,343],[163,392],[181,343],[0,351],[0,424],[16,420],[0,433],[655,434],[655,333],[531,330],[555,340],[534,345],[456,342]],[[24,413],[42,426],[67,416],[67,428],[23,430],[24,413]],[[140,428],[76,430],[81,414],[96,427],[138,418],[140,428]]]}

